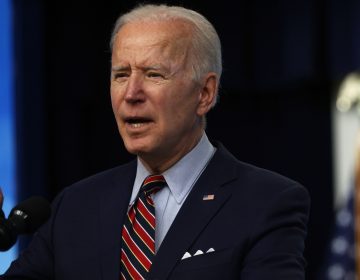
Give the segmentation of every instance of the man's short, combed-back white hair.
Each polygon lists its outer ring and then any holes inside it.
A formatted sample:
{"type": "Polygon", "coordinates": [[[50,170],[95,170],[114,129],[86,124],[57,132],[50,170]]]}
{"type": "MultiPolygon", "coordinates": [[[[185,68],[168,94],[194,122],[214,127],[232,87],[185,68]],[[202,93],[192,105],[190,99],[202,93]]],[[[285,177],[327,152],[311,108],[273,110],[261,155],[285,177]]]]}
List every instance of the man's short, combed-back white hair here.
{"type": "Polygon", "coordinates": [[[217,84],[219,84],[222,73],[219,36],[213,25],[204,16],[190,9],[163,4],[148,4],[135,7],[117,19],[110,41],[111,50],[117,33],[125,24],[167,20],[183,20],[194,27],[191,52],[194,80],[200,82],[204,75],[215,72],[217,74],[217,84]]]}

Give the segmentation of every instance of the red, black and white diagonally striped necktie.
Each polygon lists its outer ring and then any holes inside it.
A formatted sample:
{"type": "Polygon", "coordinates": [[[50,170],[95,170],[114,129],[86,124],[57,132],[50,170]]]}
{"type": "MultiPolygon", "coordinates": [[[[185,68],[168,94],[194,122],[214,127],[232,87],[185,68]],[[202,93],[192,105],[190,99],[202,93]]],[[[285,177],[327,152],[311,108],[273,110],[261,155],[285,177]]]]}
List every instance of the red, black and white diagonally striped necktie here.
{"type": "Polygon", "coordinates": [[[155,256],[155,207],[151,194],[166,185],[162,175],[148,176],[130,207],[122,229],[121,279],[145,279],[155,256]]]}

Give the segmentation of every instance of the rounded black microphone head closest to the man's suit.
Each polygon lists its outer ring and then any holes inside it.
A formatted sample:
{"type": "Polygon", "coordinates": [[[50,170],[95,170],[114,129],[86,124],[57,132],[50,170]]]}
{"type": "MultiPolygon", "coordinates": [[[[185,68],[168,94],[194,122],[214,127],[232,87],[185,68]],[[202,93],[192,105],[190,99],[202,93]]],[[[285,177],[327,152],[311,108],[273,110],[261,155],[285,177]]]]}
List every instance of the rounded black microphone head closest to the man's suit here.
{"type": "Polygon", "coordinates": [[[33,233],[50,217],[50,203],[43,197],[33,196],[14,207],[9,215],[18,234],[33,233]]]}

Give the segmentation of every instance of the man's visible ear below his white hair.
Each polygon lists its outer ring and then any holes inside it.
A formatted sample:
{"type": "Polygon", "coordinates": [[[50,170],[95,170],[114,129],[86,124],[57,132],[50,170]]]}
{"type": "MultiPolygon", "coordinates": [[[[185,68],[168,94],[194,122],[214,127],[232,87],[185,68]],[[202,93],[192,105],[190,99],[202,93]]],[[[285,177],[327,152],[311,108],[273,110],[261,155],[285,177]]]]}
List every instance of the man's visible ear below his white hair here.
{"type": "Polygon", "coordinates": [[[216,73],[208,73],[201,84],[200,93],[199,93],[199,104],[197,108],[197,114],[202,117],[205,116],[207,112],[215,104],[215,99],[217,95],[217,76],[216,73]]]}

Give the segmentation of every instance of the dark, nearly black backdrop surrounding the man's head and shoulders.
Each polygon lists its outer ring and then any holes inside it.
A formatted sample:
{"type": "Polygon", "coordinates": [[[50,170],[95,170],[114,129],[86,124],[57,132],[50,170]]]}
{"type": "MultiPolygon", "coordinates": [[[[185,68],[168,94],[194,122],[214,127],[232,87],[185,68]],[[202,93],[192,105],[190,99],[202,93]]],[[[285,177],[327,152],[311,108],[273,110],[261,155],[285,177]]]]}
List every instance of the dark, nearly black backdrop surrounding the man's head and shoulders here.
{"type": "MultiPolygon", "coordinates": [[[[221,98],[207,132],[309,190],[307,279],[316,279],[333,221],[333,85],[360,65],[358,1],[194,2],[167,1],[204,14],[222,40],[221,98]]],[[[13,3],[20,198],[52,200],[133,157],[111,111],[109,39],[135,2],[13,3]]]]}

